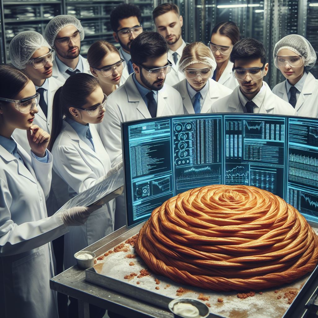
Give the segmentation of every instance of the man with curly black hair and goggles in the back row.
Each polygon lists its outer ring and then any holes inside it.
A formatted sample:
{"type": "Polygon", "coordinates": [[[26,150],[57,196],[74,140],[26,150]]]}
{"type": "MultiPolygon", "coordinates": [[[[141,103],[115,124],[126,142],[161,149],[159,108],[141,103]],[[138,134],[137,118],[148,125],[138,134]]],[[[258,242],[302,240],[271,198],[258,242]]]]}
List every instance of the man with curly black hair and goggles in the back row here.
{"type": "Polygon", "coordinates": [[[142,33],[141,12],[132,3],[121,3],[110,13],[110,25],[114,40],[121,45],[119,54],[125,61],[121,81],[124,83],[131,73],[134,73],[130,56],[130,45],[134,38],[142,33]]]}

